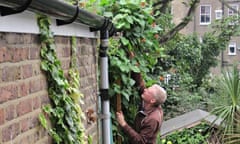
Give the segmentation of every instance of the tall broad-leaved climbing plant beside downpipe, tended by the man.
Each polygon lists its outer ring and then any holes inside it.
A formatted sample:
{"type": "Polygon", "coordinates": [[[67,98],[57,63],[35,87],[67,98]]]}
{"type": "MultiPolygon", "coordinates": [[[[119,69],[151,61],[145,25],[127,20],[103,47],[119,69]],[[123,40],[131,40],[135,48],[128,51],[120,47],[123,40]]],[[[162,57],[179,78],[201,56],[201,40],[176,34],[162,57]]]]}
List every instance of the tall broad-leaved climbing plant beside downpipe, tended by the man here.
{"type": "MultiPolygon", "coordinates": [[[[140,104],[140,96],[134,87],[131,72],[141,72],[147,85],[156,81],[148,73],[163,53],[157,39],[162,29],[155,23],[150,1],[120,0],[106,6],[106,9],[120,32],[118,37],[110,40],[108,51],[111,60],[109,93],[112,110],[116,111],[115,97],[120,94],[126,120],[132,124],[140,104]],[[134,56],[130,58],[130,55],[134,56]]],[[[116,130],[117,127],[113,129],[116,130]]]]}

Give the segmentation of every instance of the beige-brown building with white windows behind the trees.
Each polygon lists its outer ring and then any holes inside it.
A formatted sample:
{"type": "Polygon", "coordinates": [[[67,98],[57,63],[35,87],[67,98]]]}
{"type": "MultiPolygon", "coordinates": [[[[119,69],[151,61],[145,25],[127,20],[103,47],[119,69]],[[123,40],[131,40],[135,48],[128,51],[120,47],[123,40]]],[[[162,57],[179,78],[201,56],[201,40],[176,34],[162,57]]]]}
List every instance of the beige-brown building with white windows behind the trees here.
{"type": "MultiPolygon", "coordinates": [[[[172,2],[172,13],[174,23],[178,24],[185,17],[188,8],[184,2],[189,0],[174,0],[172,2]]],[[[211,31],[210,25],[217,19],[237,15],[240,6],[240,1],[228,0],[225,3],[219,0],[200,0],[197,6],[192,21],[181,30],[182,34],[197,33],[200,37],[204,33],[211,31]]],[[[232,37],[225,51],[219,55],[219,64],[216,68],[212,68],[212,72],[218,74],[221,69],[231,66],[233,63],[239,63],[240,57],[240,37],[232,37]]]]}

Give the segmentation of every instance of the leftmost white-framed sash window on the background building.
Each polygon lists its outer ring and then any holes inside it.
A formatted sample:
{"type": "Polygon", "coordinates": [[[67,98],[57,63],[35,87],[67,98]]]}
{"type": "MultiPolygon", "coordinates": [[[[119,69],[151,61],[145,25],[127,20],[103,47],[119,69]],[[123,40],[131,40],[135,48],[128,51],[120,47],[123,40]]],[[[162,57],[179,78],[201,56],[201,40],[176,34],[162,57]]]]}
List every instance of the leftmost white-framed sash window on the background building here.
{"type": "Polygon", "coordinates": [[[208,25],[211,23],[211,6],[201,5],[200,6],[200,24],[208,25]]]}

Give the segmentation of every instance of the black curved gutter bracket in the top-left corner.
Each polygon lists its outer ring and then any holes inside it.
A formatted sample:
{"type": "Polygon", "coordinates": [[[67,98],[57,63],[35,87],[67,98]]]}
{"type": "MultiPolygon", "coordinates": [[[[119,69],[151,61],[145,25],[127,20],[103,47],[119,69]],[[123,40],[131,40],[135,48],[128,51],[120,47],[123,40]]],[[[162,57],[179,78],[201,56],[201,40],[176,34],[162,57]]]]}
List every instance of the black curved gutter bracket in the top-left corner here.
{"type": "Polygon", "coordinates": [[[16,8],[0,6],[1,16],[7,16],[7,15],[21,13],[21,12],[25,11],[30,6],[31,3],[32,3],[32,0],[27,0],[27,2],[24,3],[22,6],[16,7],[16,8]]]}

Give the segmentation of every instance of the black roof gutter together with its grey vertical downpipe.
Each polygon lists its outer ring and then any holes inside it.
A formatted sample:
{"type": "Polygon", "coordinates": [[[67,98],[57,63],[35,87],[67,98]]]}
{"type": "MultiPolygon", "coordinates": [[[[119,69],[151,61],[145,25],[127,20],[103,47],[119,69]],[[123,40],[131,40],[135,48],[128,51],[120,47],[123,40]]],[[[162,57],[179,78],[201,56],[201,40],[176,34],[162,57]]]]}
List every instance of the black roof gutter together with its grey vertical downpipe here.
{"type": "Polygon", "coordinates": [[[56,24],[66,25],[72,22],[81,23],[90,27],[90,31],[100,31],[100,97],[101,97],[101,122],[103,144],[111,144],[111,113],[108,96],[108,38],[115,33],[115,27],[111,21],[72,6],[60,0],[0,0],[1,16],[21,13],[29,10],[56,18],[56,24]]]}

